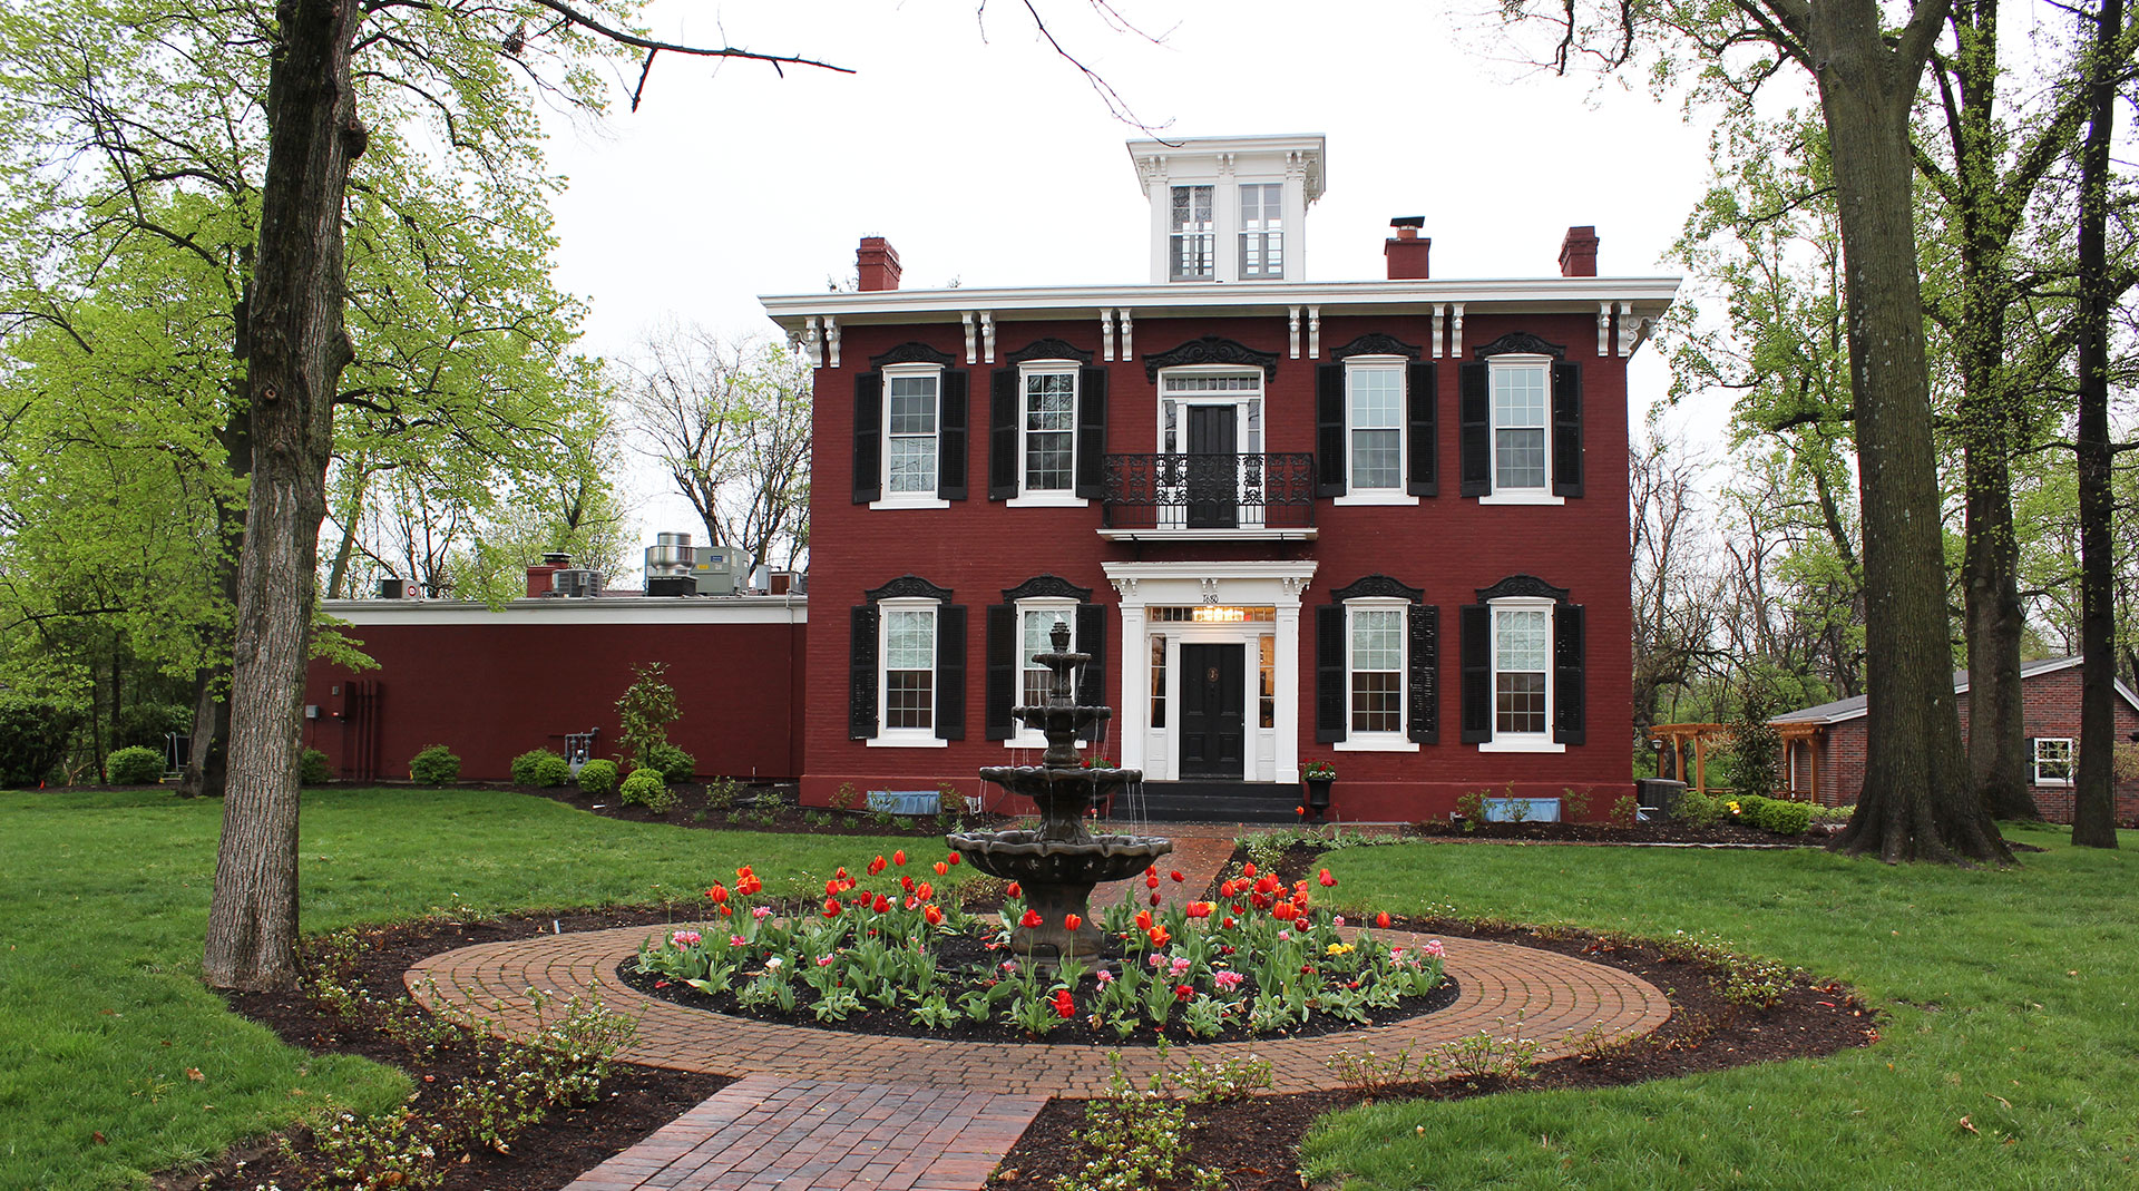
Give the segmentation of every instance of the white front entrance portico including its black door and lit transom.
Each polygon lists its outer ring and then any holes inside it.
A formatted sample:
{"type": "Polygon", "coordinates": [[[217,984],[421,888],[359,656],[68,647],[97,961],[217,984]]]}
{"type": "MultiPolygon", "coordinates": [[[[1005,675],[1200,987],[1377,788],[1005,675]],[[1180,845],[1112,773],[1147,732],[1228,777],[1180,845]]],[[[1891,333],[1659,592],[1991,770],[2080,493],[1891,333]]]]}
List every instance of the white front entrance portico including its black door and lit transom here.
{"type": "Polygon", "coordinates": [[[1315,562],[1104,569],[1121,592],[1121,763],[1149,780],[1296,783],[1301,597],[1315,562]]]}

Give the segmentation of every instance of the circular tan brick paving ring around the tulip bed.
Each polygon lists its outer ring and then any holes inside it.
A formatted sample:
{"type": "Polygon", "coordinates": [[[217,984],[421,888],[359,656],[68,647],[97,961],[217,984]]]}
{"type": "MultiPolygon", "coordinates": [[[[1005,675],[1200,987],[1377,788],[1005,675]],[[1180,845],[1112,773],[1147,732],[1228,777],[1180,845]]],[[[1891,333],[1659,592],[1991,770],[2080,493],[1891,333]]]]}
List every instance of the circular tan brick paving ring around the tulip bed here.
{"type": "MultiPolygon", "coordinates": [[[[612,1009],[640,1020],[637,1041],[622,1052],[631,1063],[721,1076],[789,1076],[798,1080],[875,1080],[941,1088],[988,1088],[1001,1095],[1097,1097],[1108,1091],[1108,1050],[1099,1043],[986,1043],[911,1037],[873,1037],[774,1022],[753,1022],[687,1009],[646,996],[616,977],[616,964],[665,926],[625,926],[582,934],[543,934],[511,943],[481,943],[430,956],[409,969],[409,990],[438,1011],[488,1018],[501,1035],[528,1033],[537,1018],[530,988],[556,994],[595,990],[612,1009]]],[[[1403,937],[1407,945],[1427,937],[1403,937]]],[[[1337,1088],[1328,1067],[1339,1050],[1392,1056],[1405,1046],[1427,1054],[1459,1037],[1491,1031],[1540,1043],[1538,1058],[1570,1054],[1570,1033],[1598,1028],[1604,1037],[1634,1037],[1671,1016],[1664,994],[1619,969],[1555,952],[1446,939],[1448,973],[1461,994],[1455,1005],[1388,1026],[1320,1037],[1262,1037],[1253,1041],[1181,1043],[1176,1061],[1260,1054],[1271,1061],[1279,1093],[1337,1088]],[[1519,1018],[1521,1016],[1521,1018],[1519,1018]]],[[[556,1009],[552,1009],[554,1014],[556,1009]]],[[[1123,1046],[1123,1069],[1142,1080],[1157,1073],[1149,1046],[1123,1046]]]]}

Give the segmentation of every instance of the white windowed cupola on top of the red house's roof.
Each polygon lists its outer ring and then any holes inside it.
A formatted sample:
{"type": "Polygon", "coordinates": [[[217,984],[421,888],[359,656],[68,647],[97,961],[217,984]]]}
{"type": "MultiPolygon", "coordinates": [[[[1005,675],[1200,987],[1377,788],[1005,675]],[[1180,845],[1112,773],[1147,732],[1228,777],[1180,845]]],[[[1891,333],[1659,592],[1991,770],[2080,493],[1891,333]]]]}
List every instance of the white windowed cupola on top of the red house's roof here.
{"type": "Polygon", "coordinates": [[[1151,201],[1151,280],[1307,280],[1307,205],[1322,197],[1322,137],[1129,141],[1151,201]]]}

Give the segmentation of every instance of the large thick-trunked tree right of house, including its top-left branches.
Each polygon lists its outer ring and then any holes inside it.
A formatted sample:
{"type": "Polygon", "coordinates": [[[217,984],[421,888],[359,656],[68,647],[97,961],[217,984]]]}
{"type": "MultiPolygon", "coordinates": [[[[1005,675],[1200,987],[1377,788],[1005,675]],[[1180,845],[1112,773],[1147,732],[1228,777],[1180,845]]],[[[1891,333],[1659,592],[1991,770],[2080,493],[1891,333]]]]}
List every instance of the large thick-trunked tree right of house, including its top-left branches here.
{"type": "Polygon", "coordinates": [[[1529,13],[1559,30],[1557,62],[1626,64],[1664,34],[1681,71],[1748,96],[1784,64],[1812,75],[1833,163],[1857,408],[1865,575],[1863,798],[1837,836],[1882,860],[1989,860],[2011,851],[1972,798],[1951,680],[1938,455],[1917,276],[1910,111],[1951,0],[1617,0],[1529,13]]]}

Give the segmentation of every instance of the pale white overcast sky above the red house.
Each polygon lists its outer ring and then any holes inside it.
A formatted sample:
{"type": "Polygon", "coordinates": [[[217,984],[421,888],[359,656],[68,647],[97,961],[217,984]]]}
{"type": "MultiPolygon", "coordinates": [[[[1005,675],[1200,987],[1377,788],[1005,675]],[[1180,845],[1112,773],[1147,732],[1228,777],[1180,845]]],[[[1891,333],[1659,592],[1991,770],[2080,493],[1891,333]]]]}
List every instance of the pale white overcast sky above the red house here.
{"type": "MultiPolygon", "coordinates": [[[[1125,0],[1153,45],[1080,0],[1037,6],[1159,135],[1328,137],[1309,280],[1384,276],[1390,216],[1425,216],[1435,278],[1553,276],[1570,225],[1596,225],[1604,276],[1671,274],[1664,252],[1707,175],[1709,133],[1677,105],[1532,71],[1491,17],[1125,0]]],[[[757,295],[847,278],[862,235],[896,246],[907,289],[1147,280],[1149,214],[1123,148],[1142,133],[1022,4],[995,0],[975,21],[967,0],[657,0],[650,24],[856,73],[663,56],[637,111],[552,122],[550,165],[571,180],[558,284],[590,301],[588,351],[629,355],[663,321],[772,334],[757,295]]],[[[1664,383],[1643,349],[1636,402],[1664,383]]],[[[1694,426],[1713,434],[1720,419],[1694,426]]],[[[644,541],[697,528],[657,477],[635,483],[644,541]]]]}

